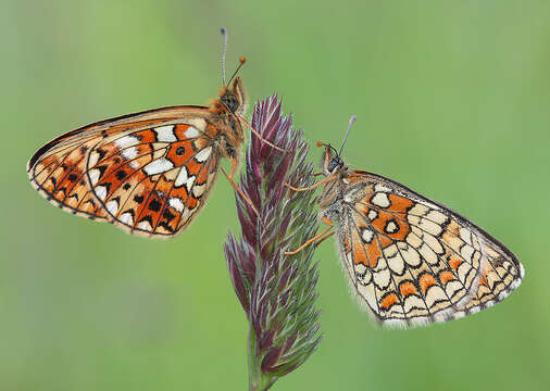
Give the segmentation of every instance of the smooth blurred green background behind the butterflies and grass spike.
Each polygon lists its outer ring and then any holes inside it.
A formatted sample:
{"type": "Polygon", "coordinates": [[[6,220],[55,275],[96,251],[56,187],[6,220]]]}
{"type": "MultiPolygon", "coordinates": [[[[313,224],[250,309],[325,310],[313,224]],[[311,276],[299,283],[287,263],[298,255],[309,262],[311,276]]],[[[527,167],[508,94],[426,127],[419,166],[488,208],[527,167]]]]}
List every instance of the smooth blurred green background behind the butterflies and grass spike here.
{"type": "MultiPolygon", "coordinates": [[[[4,142],[1,390],[245,390],[247,323],[222,243],[220,180],[190,229],[132,237],[49,205],[25,164],[102,118],[203,104],[240,55],[312,142],[468,216],[526,268],[518,291],[445,325],[376,328],[318,249],[321,349],[280,390],[541,390],[550,381],[547,1],[16,1],[0,10],[4,142]]],[[[312,161],[318,160],[314,148],[312,161]]]]}

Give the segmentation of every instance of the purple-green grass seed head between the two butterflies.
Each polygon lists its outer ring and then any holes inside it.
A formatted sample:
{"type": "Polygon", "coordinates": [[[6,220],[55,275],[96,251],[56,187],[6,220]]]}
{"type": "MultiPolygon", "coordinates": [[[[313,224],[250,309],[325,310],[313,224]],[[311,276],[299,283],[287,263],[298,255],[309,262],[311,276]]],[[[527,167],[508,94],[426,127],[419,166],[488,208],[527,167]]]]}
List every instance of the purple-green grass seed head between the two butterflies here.
{"type": "Polygon", "coordinates": [[[253,135],[246,152],[240,189],[260,213],[236,193],[241,238],[229,234],[224,245],[233,287],[249,320],[250,390],[267,390],[279,377],[299,367],[321,342],[318,279],[314,245],[296,255],[318,228],[314,191],[295,192],[313,184],[309,148],[302,131],[284,116],[277,96],[254,106],[253,135]]]}

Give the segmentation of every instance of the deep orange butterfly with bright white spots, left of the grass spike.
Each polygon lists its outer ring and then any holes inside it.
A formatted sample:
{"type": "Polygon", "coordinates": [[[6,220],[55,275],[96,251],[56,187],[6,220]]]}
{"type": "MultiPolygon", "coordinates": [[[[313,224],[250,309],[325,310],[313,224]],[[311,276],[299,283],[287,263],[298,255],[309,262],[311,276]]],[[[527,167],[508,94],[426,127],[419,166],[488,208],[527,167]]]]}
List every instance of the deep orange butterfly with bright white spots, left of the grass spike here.
{"type": "Polygon", "coordinates": [[[243,125],[251,128],[243,117],[242,79],[235,77],[245,59],[225,83],[224,28],[222,34],[224,86],[210,106],[148,110],[64,134],[30,157],[30,184],[64,211],[155,238],[189,226],[220,169],[239,191],[233,175],[243,125]],[[220,166],[222,157],[232,161],[229,175],[220,166]]]}

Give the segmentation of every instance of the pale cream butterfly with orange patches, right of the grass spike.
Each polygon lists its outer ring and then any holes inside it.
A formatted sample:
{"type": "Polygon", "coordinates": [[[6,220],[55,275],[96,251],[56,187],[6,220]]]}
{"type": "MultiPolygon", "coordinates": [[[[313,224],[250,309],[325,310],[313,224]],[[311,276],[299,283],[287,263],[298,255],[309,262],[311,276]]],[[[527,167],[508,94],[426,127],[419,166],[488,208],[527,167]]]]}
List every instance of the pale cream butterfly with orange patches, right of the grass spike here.
{"type": "Polygon", "coordinates": [[[351,290],[378,323],[408,327],[460,318],[520,286],[517,257],[474,223],[395,180],[349,169],[341,148],[317,144],[325,147],[325,178],[292,189],[323,185],[320,216],[328,227],[286,254],[318,244],[336,226],[351,290]]]}

